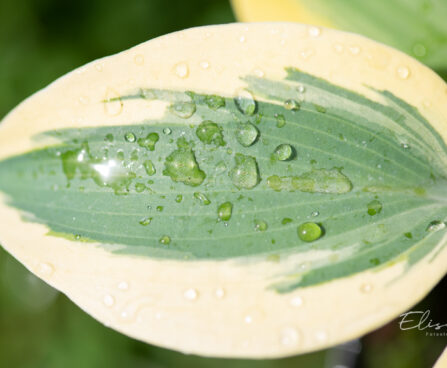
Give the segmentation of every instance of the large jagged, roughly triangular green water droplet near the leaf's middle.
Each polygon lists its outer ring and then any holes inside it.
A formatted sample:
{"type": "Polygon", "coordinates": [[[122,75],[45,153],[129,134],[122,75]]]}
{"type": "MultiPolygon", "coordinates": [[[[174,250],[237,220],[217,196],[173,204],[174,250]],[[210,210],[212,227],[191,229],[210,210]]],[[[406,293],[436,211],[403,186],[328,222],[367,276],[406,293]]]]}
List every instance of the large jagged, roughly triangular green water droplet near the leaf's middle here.
{"type": "Polygon", "coordinates": [[[190,144],[182,137],[177,140],[177,146],[178,149],[166,157],[163,175],[193,187],[202,184],[206,174],[200,170],[190,144]]]}

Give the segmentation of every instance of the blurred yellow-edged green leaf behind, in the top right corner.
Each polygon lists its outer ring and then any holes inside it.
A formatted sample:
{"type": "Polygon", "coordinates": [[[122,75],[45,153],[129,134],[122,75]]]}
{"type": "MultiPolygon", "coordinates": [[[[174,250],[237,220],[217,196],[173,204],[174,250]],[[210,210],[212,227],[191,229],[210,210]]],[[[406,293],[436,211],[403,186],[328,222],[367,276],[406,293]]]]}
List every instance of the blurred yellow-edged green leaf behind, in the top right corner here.
{"type": "MultiPolygon", "coordinates": [[[[294,21],[360,33],[447,73],[447,3],[442,0],[233,0],[233,8],[244,22],[294,21]]],[[[350,47],[340,52],[356,54],[358,45],[350,47]]]]}

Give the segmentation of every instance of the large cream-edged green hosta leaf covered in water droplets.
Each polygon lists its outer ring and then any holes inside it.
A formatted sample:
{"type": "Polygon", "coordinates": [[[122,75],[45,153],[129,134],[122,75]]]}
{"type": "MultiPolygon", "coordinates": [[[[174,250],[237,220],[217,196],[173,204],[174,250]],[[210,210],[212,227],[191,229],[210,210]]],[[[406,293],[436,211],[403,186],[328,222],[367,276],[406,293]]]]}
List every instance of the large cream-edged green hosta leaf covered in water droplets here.
{"type": "Polygon", "coordinates": [[[184,31],[24,102],[0,129],[6,249],[112,327],[204,355],[314,350],[416,302],[446,271],[446,86],[307,31],[184,31]]]}

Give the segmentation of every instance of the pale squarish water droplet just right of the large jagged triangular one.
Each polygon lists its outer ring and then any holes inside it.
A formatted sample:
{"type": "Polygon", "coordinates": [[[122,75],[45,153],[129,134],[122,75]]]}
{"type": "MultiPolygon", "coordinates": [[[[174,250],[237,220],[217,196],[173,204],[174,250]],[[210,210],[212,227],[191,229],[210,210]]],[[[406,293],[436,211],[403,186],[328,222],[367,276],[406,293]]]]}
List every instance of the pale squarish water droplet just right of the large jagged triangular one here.
{"type": "Polygon", "coordinates": [[[239,189],[254,188],[260,179],[256,159],[237,153],[234,160],[235,166],[228,173],[233,185],[239,189]]]}

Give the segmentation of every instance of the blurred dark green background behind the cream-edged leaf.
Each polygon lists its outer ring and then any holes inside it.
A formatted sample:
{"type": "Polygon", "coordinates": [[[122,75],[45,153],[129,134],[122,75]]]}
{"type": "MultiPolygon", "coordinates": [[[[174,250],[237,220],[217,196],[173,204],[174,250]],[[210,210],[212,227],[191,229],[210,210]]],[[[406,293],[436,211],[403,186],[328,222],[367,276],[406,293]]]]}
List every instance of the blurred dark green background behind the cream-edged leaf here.
{"type": "MultiPolygon", "coordinates": [[[[89,61],[194,26],[234,22],[227,0],[0,0],[0,119],[89,61]]],[[[445,322],[447,279],[412,310],[445,322]]],[[[132,340],[82,312],[0,248],[0,367],[430,367],[446,337],[397,321],[347,346],[287,359],[187,356],[132,340]]]]}

